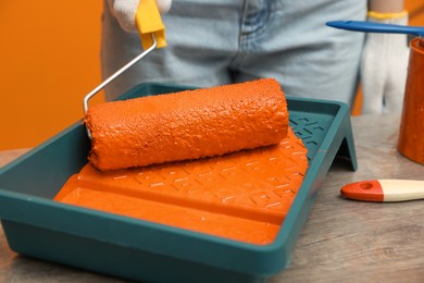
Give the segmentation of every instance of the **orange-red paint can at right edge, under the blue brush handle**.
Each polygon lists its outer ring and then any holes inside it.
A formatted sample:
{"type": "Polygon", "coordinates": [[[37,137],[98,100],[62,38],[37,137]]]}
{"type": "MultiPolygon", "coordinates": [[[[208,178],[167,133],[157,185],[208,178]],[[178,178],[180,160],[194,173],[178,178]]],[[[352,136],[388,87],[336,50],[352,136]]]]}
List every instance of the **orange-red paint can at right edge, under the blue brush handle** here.
{"type": "Polygon", "coordinates": [[[413,39],[410,47],[398,150],[424,164],[424,39],[413,39]]]}

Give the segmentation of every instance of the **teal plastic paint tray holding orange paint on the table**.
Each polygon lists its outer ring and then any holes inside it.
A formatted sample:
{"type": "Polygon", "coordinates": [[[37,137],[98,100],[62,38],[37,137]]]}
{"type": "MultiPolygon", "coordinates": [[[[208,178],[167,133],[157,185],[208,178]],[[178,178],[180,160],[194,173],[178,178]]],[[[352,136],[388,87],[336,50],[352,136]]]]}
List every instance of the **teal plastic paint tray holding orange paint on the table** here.
{"type": "MultiPolygon", "coordinates": [[[[121,99],[185,90],[142,84],[121,99]]],[[[287,97],[292,132],[309,169],[283,225],[267,244],[190,231],[53,200],[87,164],[90,142],[78,122],[0,170],[0,219],[16,253],[139,281],[261,282],[286,268],[336,155],[357,168],[349,109],[287,97]]]]}

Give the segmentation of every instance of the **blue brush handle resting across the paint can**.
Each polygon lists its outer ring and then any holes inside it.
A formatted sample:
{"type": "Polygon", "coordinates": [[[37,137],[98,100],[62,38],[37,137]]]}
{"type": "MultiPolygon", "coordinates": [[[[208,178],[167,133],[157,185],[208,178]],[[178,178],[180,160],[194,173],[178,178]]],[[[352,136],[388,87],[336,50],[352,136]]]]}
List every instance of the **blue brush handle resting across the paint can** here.
{"type": "Polygon", "coordinates": [[[363,21],[333,21],[327,26],[353,32],[424,36],[424,26],[390,25],[363,21]]]}

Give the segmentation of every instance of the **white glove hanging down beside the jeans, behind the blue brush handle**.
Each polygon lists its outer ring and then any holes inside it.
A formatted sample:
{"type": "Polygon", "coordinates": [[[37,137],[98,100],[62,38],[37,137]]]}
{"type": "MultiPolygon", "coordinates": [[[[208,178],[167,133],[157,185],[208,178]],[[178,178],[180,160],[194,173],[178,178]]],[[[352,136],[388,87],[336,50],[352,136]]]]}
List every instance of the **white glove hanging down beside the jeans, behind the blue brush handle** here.
{"type": "MultiPolygon", "coordinates": [[[[408,25],[408,13],[400,17],[369,21],[408,25]]],[[[369,33],[361,62],[362,113],[400,112],[408,75],[407,35],[369,33]]]]}

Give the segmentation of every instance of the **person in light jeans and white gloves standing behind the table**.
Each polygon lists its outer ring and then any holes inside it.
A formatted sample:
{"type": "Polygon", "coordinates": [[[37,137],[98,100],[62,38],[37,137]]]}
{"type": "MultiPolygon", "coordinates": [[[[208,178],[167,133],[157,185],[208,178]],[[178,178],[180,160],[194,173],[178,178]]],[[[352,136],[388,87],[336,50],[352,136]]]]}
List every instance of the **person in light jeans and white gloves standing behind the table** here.
{"type": "MultiPolygon", "coordinates": [[[[104,0],[103,78],[142,51],[135,25],[138,2],[104,0]]],[[[364,21],[369,15],[369,21],[406,24],[403,0],[157,3],[167,46],[153,50],[111,83],[105,88],[107,100],[142,82],[210,87],[273,77],[286,96],[352,106],[361,70],[364,113],[401,109],[408,64],[406,37],[369,34],[365,40],[363,33],[331,28],[325,23],[364,21]],[[367,14],[369,9],[373,13],[367,14]]]]}

